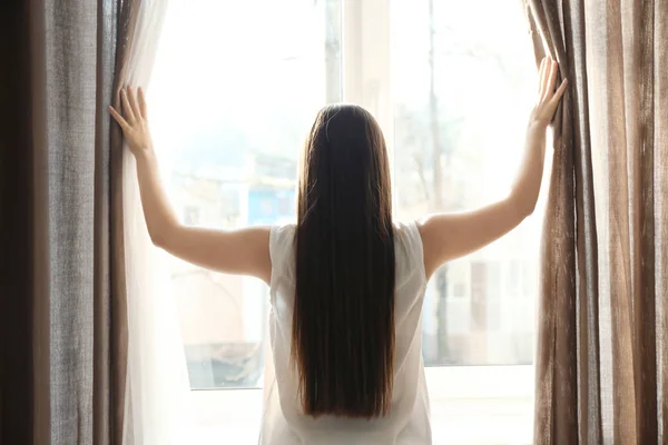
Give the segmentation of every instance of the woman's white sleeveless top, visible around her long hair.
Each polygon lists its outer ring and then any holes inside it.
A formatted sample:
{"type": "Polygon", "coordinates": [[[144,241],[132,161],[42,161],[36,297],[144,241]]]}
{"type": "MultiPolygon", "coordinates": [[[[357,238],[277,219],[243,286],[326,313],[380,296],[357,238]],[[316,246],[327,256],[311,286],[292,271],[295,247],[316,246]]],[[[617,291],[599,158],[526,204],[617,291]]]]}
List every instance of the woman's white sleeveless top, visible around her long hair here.
{"type": "Polygon", "coordinates": [[[305,416],[291,365],[295,295],[295,226],[272,228],[269,335],[275,375],[265,384],[262,445],[431,444],[430,406],[422,362],[422,303],[426,279],[422,239],[414,222],[394,226],[395,363],[392,408],[371,421],[305,416]],[[272,378],[273,377],[273,378],[272,378]]]}

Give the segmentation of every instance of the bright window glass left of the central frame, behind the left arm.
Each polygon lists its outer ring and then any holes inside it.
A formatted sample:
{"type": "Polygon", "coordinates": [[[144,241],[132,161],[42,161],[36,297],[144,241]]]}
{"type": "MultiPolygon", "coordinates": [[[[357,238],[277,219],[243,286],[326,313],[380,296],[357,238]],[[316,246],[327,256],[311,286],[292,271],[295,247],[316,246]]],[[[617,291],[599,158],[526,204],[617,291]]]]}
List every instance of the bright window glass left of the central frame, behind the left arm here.
{"type": "MultiPolygon", "coordinates": [[[[164,179],[187,224],[294,219],[298,152],[341,100],[340,0],[173,0],[149,91],[164,179]]],[[[174,259],[193,388],[262,386],[267,287],[174,259]]]]}

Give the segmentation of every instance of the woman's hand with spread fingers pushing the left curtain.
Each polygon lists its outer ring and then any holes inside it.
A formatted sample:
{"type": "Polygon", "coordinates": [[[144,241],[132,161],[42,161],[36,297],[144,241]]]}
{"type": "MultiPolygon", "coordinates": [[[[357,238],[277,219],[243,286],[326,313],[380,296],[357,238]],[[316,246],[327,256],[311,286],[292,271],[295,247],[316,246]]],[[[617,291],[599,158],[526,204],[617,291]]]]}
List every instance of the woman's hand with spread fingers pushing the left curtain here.
{"type": "Polygon", "coordinates": [[[153,140],[148,128],[148,115],[146,100],[141,88],[135,92],[130,87],[120,90],[122,103],[122,116],[114,107],[109,107],[109,113],[122,129],[130,151],[135,156],[144,155],[153,149],[153,140]]]}

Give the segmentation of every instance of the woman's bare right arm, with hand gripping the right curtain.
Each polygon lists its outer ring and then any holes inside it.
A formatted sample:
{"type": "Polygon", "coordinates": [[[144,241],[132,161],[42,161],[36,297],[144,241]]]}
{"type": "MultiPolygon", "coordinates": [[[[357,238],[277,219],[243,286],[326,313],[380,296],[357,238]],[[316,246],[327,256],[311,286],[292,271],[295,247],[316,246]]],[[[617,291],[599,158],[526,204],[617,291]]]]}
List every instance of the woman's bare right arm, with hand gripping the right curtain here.
{"type": "Polygon", "coordinates": [[[418,227],[424,246],[424,267],[430,277],[443,263],[470,254],[508,234],[531,215],[542,179],[546,130],[566,90],[566,79],[554,91],[558,65],[543,59],[538,103],[529,119],[524,159],[511,194],[503,200],[462,214],[435,214],[418,227]]]}

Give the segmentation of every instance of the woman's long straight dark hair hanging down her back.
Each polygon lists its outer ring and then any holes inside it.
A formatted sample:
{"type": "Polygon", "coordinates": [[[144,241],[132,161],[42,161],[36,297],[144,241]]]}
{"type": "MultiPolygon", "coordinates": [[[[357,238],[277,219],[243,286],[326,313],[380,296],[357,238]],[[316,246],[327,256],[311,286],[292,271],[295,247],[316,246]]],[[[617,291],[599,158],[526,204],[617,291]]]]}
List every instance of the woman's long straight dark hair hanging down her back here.
{"type": "Polygon", "coordinates": [[[361,107],[315,119],[299,177],[292,359],[304,413],[386,415],[394,379],[394,234],[385,140],[361,107]]]}

